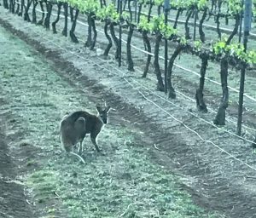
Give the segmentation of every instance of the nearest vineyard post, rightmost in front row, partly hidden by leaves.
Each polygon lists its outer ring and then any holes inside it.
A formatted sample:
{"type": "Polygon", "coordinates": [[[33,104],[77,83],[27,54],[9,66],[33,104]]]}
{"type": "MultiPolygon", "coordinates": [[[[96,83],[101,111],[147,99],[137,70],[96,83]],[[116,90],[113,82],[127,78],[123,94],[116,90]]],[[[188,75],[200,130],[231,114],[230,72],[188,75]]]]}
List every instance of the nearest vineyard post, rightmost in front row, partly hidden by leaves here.
{"type": "MultiPolygon", "coordinates": [[[[251,30],[252,22],[252,0],[245,0],[245,12],[244,12],[244,30],[243,30],[243,45],[245,51],[247,51],[248,35],[251,30]]],[[[245,81],[246,66],[242,66],[240,77],[240,91],[239,91],[239,106],[238,106],[238,118],[236,134],[241,135],[241,118],[242,118],[242,105],[243,105],[243,93],[244,93],[244,81],[245,81]]]]}

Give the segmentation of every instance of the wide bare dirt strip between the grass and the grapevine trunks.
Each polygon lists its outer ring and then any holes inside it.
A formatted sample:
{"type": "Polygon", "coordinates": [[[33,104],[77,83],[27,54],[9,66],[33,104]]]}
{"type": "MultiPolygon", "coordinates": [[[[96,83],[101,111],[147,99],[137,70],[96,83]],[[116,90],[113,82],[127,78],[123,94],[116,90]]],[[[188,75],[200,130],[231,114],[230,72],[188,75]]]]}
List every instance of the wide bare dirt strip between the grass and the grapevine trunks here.
{"type": "Polygon", "coordinates": [[[185,98],[169,101],[165,95],[155,95],[154,80],[150,77],[145,80],[126,72],[125,67],[118,69],[112,59],[101,60],[94,51],[72,44],[60,35],[53,36],[40,26],[24,23],[12,14],[5,15],[1,25],[44,54],[62,79],[83,90],[90,100],[97,96],[97,100],[104,99],[113,105],[116,112],[110,122],[135,129],[132,135],[144,145],[148,157],[182,176],[181,188],[190,192],[196,204],[224,217],[255,217],[255,153],[250,143],[224,131],[233,130],[234,126],[216,129],[203,123],[190,112],[207,120],[211,120],[213,113],[198,114],[194,102],[185,98]]]}

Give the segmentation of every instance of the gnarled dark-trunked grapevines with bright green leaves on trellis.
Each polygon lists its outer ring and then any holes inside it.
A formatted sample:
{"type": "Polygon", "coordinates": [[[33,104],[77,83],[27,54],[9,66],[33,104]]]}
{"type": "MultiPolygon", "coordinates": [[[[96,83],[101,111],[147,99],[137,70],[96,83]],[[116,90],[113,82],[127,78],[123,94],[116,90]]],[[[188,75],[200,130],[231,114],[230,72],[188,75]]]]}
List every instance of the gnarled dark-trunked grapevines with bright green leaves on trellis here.
{"type": "MultiPolygon", "coordinates": [[[[190,3],[190,1],[188,1],[190,3]]],[[[67,37],[67,16],[70,14],[72,27],[69,31],[69,36],[71,37],[73,43],[79,43],[78,38],[75,36],[75,28],[79,14],[86,14],[88,22],[88,34],[85,43],[85,47],[94,49],[96,45],[96,20],[102,21],[104,25],[104,33],[108,39],[108,46],[104,50],[103,55],[108,56],[110,49],[115,45],[115,58],[116,60],[121,59],[121,33],[125,29],[127,31],[127,45],[126,45],[126,60],[129,71],[134,71],[134,64],[131,55],[131,38],[133,32],[139,32],[143,37],[143,43],[146,51],[148,53],[152,52],[151,43],[149,40],[149,35],[154,37],[154,73],[157,78],[157,89],[159,91],[164,91],[168,94],[169,98],[175,99],[176,93],[172,86],[172,70],[174,66],[174,61],[182,52],[190,53],[196,55],[201,60],[201,77],[199,81],[199,88],[196,89],[195,100],[199,111],[207,112],[207,105],[203,99],[203,90],[205,83],[205,75],[207,72],[208,61],[217,61],[220,65],[220,78],[222,83],[223,97],[218,107],[218,113],[214,118],[213,123],[216,125],[225,124],[225,112],[229,103],[229,89],[228,83],[228,70],[229,67],[235,67],[241,71],[246,71],[247,66],[256,64],[256,52],[254,50],[247,51],[247,48],[241,43],[232,43],[233,37],[237,34],[239,26],[241,26],[242,19],[242,5],[240,1],[223,1],[224,4],[221,6],[218,1],[212,1],[213,6],[209,7],[209,1],[191,1],[191,4],[185,5],[172,5],[171,9],[177,10],[176,20],[174,25],[171,26],[166,23],[167,11],[163,7],[163,1],[138,1],[138,12],[136,14],[131,11],[131,0],[125,1],[122,5],[122,1],[119,1],[117,5],[113,3],[106,3],[105,0],[67,0],[67,1],[37,1],[37,0],[21,0],[20,3],[15,2],[15,0],[3,0],[3,7],[9,9],[10,12],[22,15],[24,20],[32,21],[32,23],[38,23],[44,25],[49,29],[50,26],[50,15],[54,6],[57,7],[57,18],[51,23],[52,30],[56,33],[56,24],[60,20],[61,8],[64,9],[65,22],[62,30],[62,35],[67,37]],[[193,2],[193,3],[192,3],[193,2]],[[42,19],[37,20],[36,7],[38,3],[41,10],[44,12],[44,4],[46,5],[46,13],[42,14],[42,19]],[[128,7],[125,10],[125,7],[128,7]],[[142,8],[148,6],[148,15],[142,14],[142,8]],[[224,7],[225,6],[225,7],[224,7]],[[236,6],[236,7],[235,7],[236,6]],[[118,10],[116,9],[118,8],[118,10]],[[203,32],[202,24],[207,19],[207,16],[214,16],[218,19],[221,17],[223,12],[221,12],[221,7],[226,9],[227,18],[233,18],[235,20],[235,27],[233,32],[231,32],[228,37],[221,37],[219,35],[219,40],[217,42],[206,43],[206,36],[203,32]],[[32,20],[29,16],[29,9],[32,8],[32,20]],[[152,17],[152,11],[156,10],[159,16],[152,17]],[[218,13],[216,11],[218,9],[218,13]],[[192,15],[198,16],[198,11],[202,11],[199,34],[200,40],[192,40],[189,36],[189,30],[187,30],[185,24],[186,34],[183,36],[177,32],[177,20],[179,14],[186,10],[186,23],[189,21],[192,15]],[[212,11],[215,11],[212,13],[212,11]],[[127,12],[128,11],[128,12],[127,12]],[[161,11],[165,12],[161,14],[161,11]],[[133,21],[133,15],[136,16],[135,21],[133,21]],[[117,28],[119,26],[119,38],[116,36],[117,28]],[[160,70],[159,63],[159,52],[160,52],[160,42],[165,40],[166,44],[170,41],[176,44],[176,47],[171,55],[166,58],[166,70],[164,75],[160,70]]],[[[253,3],[254,4],[254,3],[253,3]]],[[[218,24],[218,20],[217,20],[218,24]]],[[[217,26],[218,27],[218,26],[217,26]]],[[[217,32],[218,32],[217,28],[217,32]]],[[[167,46],[166,46],[167,49],[167,46]]],[[[167,50],[166,50],[167,54],[167,50]]],[[[167,55],[166,55],[167,57],[167,55]]],[[[143,71],[143,77],[147,77],[148,67],[151,62],[152,55],[147,55],[146,66],[143,71]]],[[[242,103],[242,102],[241,102],[242,103]]]]}

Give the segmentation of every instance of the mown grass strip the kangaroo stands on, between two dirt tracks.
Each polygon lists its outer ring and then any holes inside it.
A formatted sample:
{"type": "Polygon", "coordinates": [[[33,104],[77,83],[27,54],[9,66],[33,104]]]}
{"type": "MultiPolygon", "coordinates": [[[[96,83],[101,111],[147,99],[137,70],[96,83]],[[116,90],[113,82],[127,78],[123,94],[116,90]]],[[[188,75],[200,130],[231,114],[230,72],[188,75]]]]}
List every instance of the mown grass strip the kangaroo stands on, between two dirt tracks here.
{"type": "Polygon", "coordinates": [[[110,123],[99,138],[106,155],[94,152],[86,140],[86,164],[60,152],[61,116],[85,107],[92,112],[94,103],[63,81],[32,48],[16,37],[9,40],[9,33],[2,29],[1,34],[3,96],[22,123],[16,128],[41,149],[27,161],[40,168],[24,180],[35,204],[44,205],[46,217],[57,217],[60,211],[73,218],[214,217],[193,204],[178,186],[176,175],[148,158],[148,145],[135,140],[137,129],[110,123]],[[48,205],[53,200],[56,204],[48,205]]]}

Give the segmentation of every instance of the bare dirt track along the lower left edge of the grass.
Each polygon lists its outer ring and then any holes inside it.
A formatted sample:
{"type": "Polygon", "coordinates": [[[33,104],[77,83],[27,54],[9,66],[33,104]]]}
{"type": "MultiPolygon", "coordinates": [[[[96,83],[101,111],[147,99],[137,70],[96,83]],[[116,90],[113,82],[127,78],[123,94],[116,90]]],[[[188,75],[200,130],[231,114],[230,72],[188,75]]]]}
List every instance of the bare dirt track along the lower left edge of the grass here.
{"type": "MultiPolygon", "coordinates": [[[[3,105],[5,102],[0,98],[1,109],[3,105]]],[[[10,152],[9,141],[14,137],[19,138],[19,133],[7,136],[4,127],[9,123],[15,123],[15,119],[9,112],[1,111],[0,123],[0,217],[33,217],[32,208],[26,201],[24,184],[17,180],[17,175],[24,170],[20,167],[19,160],[30,154],[29,148],[26,149],[26,153],[23,149],[23,152],[19,153],[10,152]]]]}

